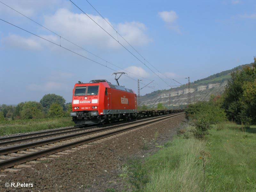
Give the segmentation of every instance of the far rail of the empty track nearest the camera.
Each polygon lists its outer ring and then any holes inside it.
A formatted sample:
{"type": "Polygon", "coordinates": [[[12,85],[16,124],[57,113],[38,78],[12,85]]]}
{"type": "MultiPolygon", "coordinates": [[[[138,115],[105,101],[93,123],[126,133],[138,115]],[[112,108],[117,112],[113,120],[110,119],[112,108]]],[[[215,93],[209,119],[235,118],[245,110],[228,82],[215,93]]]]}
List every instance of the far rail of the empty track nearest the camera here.
{"type": "MultiPolygon", "coordinates": [[[[183,113],[183,112],[181,112],[181,113],[183,113]]],[[[180,113],[178,113],[178,114],[180,114],[180,113]]],[[[171,114],[171,115],[168,114],[165,116],[168,117],[168,116],[172,116],[172,115],[174,115],[174,114],[171,114]]],[[[16,145],[16,146],[8,147],[8,148],[2,148],[2,149],[0,149],[0,155],[5,155],[5,154],[16,152],[19,150],[25,150],[28,148],[34,148],[34,147],[38,147],[38,146],[42,146],[42,145],[47,145],[49,143],[59,142],[62,140],[73,139],[73,138],[76,138],[79,136],[85,136],[85,135],[89,135],[92,133],[102,132],[102,131],[105,131],[108,129],[114,129],[117,127],[123,127],[123,126],[131,125],[131,124],[137,124],[140,122],[150,121],[152,119],[157,119],[157,118],[161,118],[161,117],[165,117],[165,116],[160,116],[160,117],[157,116],[157,117],[147,118],[147,119],[140,120],[140,121],[134,121],[134,122],[125,123],[125,124],[117,124],[117,125],[113,125],[113,126],[107,126],[107,127],[103,127],[103,128],[92,130],[92,131],[78,132],[78,133],[64,135],[64,136],[55,137],[55,138],[50,138],[50,139],[46,139],[46,140],[40,140],[40,141],[35,141],[35,142],[26,143],[26,144],[22,144],[22,145],[16,145]]]]}

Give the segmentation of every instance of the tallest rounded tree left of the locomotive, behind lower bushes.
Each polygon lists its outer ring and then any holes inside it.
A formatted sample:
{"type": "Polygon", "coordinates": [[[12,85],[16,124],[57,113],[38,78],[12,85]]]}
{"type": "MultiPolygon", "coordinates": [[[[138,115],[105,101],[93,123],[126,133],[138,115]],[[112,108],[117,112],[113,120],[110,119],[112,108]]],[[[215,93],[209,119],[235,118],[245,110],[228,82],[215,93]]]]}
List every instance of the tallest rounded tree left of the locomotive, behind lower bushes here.
{"type": "Polygon", "coordinates": [[[62,109],[65,107],[66,100],[60,96],[55,94],[47,94],[44,95],[44,97],[40,100],[40,103],[43,107],[47,108],[47,110],[50,108],[50,106],[53,103],[58,103],[62,107],[62,109]]]}

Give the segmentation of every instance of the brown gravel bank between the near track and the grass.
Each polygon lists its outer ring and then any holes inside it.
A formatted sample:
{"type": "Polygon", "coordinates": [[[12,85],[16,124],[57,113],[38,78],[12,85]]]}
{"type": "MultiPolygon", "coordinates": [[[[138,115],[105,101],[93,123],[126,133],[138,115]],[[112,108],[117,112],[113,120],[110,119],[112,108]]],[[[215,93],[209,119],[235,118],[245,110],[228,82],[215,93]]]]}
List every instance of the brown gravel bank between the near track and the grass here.
{"type": "MultiPolygon", "coordinates": [[[[126,158],[146,156],[154,151],[154,138],[157,142],[170,140],[185,115],[173,117],[132,132],[122,134],[87,148],[76,150],[18,172],[7,172],[0,177],[0,191],[105,191],[106,188],[124,188],[118,178],[120,167],[126,158]],[[147,146],[147,151],[145,151],[147,146]],[[33,183],[33,188],[4,187],[6,182],[33,183]]],[[[117,191],[118,191],[117,190],[117,191]]]]}

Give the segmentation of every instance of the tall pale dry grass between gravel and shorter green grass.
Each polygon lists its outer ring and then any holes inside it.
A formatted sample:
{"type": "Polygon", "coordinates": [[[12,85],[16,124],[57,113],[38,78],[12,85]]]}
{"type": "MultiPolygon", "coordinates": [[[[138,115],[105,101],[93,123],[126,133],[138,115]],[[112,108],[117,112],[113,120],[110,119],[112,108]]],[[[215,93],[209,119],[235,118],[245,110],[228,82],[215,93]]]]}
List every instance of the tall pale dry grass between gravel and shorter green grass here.
{"type": "Polygon", "coordinates": [[[173,146],[159,151],[147,162],[152,169],[150,182],[144,191],[203,191],[202,141],[177,139],[173,146]]]}

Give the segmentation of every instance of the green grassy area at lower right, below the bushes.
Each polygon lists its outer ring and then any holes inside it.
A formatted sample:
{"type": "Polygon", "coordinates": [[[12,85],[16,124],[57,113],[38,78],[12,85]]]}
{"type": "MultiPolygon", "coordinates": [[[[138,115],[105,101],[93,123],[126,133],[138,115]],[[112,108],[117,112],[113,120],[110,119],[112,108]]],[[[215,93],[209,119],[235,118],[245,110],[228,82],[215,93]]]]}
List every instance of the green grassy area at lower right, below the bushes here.
{"type": "Polygon", "coordinates": [[[143,165],[133,164],[132,184],[140,191],[256,191],[256,126],[215,125],[205,139],[188,131],[143,165]],[[203,159],[205,161],[205,180],[203,159]]]}

